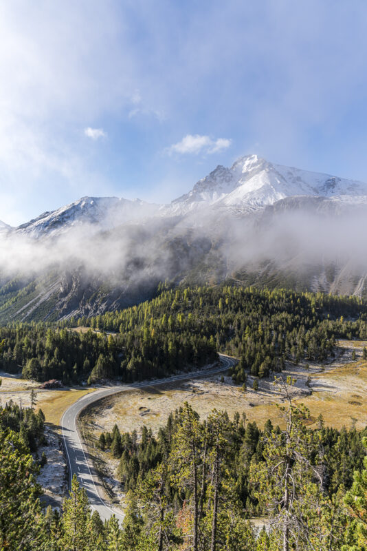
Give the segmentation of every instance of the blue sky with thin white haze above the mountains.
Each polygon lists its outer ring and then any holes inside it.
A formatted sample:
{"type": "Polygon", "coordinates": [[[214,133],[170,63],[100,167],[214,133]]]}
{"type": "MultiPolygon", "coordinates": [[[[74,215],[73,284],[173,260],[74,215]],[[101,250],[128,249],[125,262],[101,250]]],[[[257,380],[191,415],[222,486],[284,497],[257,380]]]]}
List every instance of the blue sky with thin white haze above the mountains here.
{"type": "Polygon", "coordinates": [[[364,0],[0,4],[0,220],[257,153],[367,180],[364,0]]]}

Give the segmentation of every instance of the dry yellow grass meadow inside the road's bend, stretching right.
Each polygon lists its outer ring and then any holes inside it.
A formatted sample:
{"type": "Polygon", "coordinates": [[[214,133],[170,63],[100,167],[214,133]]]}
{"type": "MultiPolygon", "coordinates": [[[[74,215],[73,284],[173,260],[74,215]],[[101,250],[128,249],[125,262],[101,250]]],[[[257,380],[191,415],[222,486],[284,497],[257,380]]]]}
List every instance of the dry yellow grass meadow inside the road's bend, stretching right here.
{"type": "MultiPolygon", "coordinates": [[[[320,414],[326,425],[335,428],[353,424],[364,428],[367,425],[367,362],[362,359],[362,349],[366,344],[364,341],[340,342],[343,354],[334,364],[313,364],[309,369],[305,365],[287,366],[287,373],[298,379],[293,400],[309,408],[311,427],[316,426],[315,420],[320,414]],[[355,362],[351,360],[353,349],[356,351],[355,362]],[[307,395],[309,389],[305,384],[308,377],[311,377],[311,395],[307,395]]],[[[263,426],[267,419],[282,424],[277,407],[282,397],[270,382],[260,380],[258,393],[251,388],[244,393],[227,377],[222,384],[219,376],[116,395],[92,406],[85,420],[95,437],[102,430],[111,430],[115,423],[123,431],[134,428],[139,431],[146,425],[157,432],[159,426],[166,423],[170,412],[184,402],[189,402],[202,418],[207,417],[212,408],[217,408],[227,410],[231,417],[235,411],[245,413],[249,421],[256,421],[259,426],[263,426]],[[91,418],[93,425],[89,423],[91,418]]]]}

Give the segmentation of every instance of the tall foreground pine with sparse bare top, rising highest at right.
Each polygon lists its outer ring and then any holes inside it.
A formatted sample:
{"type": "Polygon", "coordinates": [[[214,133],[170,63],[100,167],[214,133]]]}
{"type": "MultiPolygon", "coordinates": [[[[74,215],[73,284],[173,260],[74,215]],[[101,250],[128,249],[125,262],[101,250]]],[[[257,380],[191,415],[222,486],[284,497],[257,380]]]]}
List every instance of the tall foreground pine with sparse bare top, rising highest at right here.
{"type": "MultiPolygon", "coordinates": [[[[288,377],[287,384],[282,379],[278,383],[288,402],[287,408],[280,407],[286,426],[265,437],[265,462],[253,464],[251,475],[258,484],[256,497],[269,514],[277,549],[308,551],[313,548],[313,540],[318,539],[317,512],[322,501],[320,489],[314,484],[314,480],[320,481],[320,473],[311,461],[312,452],[317,449],[313,441],[316,434],[304,427],[308,410],[291,403],[288,388],[294,381],[288,377]]],[[[322,535],[319,534],[319,542],[322,535]]]]}

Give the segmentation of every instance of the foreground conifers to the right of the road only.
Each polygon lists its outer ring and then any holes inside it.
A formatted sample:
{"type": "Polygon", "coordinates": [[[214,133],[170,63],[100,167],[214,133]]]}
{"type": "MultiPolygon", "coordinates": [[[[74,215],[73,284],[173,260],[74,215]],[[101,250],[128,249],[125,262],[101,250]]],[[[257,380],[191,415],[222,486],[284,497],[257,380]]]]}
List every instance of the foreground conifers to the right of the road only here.
{"type": "Polygon", "coordinates": [[[124,523],[133,539],[121,549],[366,549],[353,519],[366,514],[366,501],[354,501],[365,481],[355,475],[353,484],[353,472],[367,466],[366,430],[325,428],[321,418],[310,430],[308,410],[290,400],[280,413],[284,428],[269,420],[260,430],[217,410],[201,421],[185,404],[157,438],[145,427],[141,435],[120,435],[117,426],[101,433],[100,446],[121,457],[129,490],[124,523]],[[267,532],[246,521],[258,515],[267,532]]]}

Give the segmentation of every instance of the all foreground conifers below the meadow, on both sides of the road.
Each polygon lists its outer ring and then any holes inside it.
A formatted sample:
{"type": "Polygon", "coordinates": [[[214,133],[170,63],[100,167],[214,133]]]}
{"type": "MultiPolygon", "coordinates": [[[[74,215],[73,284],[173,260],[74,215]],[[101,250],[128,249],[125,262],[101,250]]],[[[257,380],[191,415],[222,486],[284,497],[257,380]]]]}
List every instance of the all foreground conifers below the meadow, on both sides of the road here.
{"type": "Polygon", "coordinates": [[[145,428],[139,439],[104,434],[100,445],[122,454],[131,488],[122,527],[115,517],[102,523],[75,475],[61,513],[43,510],[29,449],[1,426],[0,548],[366,551],[366,430],[331,430],[322,419],[310,430],[307,409],[290,400],[281,415],[283,428],[260,430],[216,410],[201,421],[185,404],[157,439],[145,428]],[[249,523],[254,514],[266,514],[267,532],[249,523]]]}

